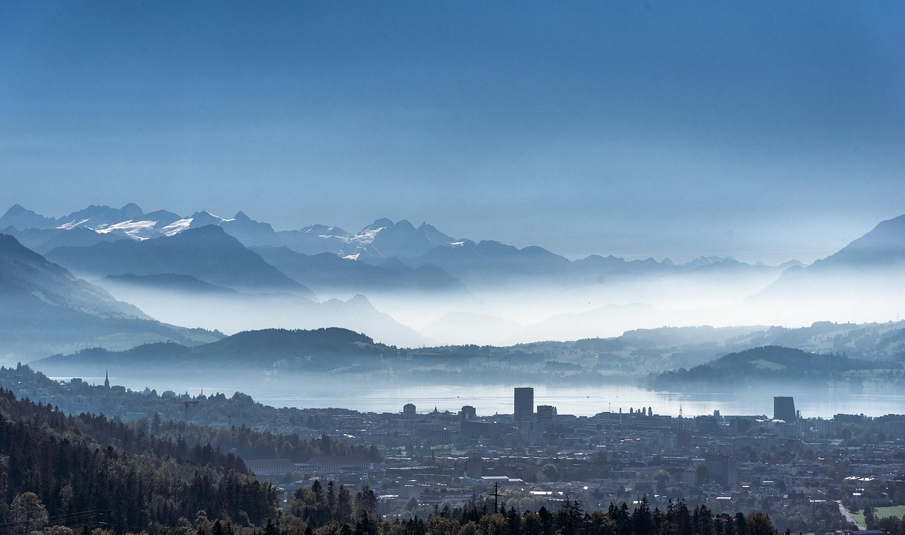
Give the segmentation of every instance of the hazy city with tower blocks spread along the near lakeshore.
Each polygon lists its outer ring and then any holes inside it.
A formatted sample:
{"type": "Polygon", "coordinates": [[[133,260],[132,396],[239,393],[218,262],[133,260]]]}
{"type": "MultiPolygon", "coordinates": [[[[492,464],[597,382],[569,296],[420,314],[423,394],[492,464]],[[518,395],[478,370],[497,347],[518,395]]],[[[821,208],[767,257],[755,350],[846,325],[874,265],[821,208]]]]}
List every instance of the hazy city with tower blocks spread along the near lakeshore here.
{"type": "Polygon", "coordinates": [[[468,405],[419,411],[411,403],[378,414],[266,407],[239,394],[157,396],[77,379],[47,383],[27,367],[2,375],[0,387],[15,385],[19,396],[67,412],[94,407],[148,433],[157,421],[157,433],[174,437],[242,428],[335,441],[342,445],[308,458],[310,450],[236,451],[284,500],[313,481],[367,485],[380,514],[403,520],[475,498],[519,511],[554,511],[570,501],[595,511],[642,500],[666,510],[685,501],[717,514],[765,511],[777,530],[832,532],[864,530],[866,511],[885,511],[905,492],[905,415],[805,418],[794,396],[774,397],[772,415],[675,417],[629,407],[571,416],[535,405],[533,387],[514,387],[511,414],[479,416],[468,405]],[[162,418],[171,418],[167,431],[162,418]]]}

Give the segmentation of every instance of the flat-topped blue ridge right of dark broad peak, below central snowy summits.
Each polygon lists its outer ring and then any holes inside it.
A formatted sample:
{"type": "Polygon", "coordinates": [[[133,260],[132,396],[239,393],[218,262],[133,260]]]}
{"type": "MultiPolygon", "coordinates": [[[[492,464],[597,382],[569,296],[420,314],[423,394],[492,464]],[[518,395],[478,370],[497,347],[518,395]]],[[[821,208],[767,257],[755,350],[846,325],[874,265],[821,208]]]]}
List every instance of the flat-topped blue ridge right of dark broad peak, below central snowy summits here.
{"type": "Polygon", "coordinates": [[[296,253],[288,247],[252,247],[252,251],[316,292],[464,291],[462,282],[433,264],[412,269],[389,259],[372,265],[333,253],[296,253]]]}

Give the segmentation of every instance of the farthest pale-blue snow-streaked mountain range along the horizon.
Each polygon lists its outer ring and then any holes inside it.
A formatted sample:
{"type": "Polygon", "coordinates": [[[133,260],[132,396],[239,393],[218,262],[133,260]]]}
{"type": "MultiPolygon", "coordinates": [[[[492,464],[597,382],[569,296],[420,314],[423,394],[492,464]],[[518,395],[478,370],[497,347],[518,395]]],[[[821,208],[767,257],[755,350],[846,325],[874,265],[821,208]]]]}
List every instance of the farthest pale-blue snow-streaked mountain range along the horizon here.
{"type": "MultiPolygon", "coordinates": [[[[496,284],[500,279],[551,277],[562,282],[600,282],[606,277],[651,273],[739,269],[776,272],[794,264],[792,262],[782,266],[765,266],[740,263],[732,258],[717,256],[700,257],[684,264],[674,264],[669,259],[662,262],[657,262],[653,258],[644,261],[625,261],[614,256],[599,255],[569,261],[540,247],[529,246],[519,249],[492,240],[473,241],[467,238],[454,238],[437,230],[433,225],[423,223],[415,227],[405,219],[395,223],[386,218],[377,219],[373,224],[353,234],[328,225],[274,231],[271,225],[254,221],[243,212],[231,218],[212,215],[207,211],[195,212],[188,216],[176,215],[166,210],[146,214],[135,204],[122,208],[91,205],[70,215],[56,218],[38,215],[21,205],[14,205],[0,216],[0,231],[15,235],[20,242],[38,253],[50,253],[60,248],[90,247],[121,240],[143,242],[154,238],[175,237],[207,225],[220,227],[225,234],[233,236],[246,247],[259,248],[258,253],[268,251],[267,248],[284,247],[291,252],[307,256],[331,253],[340,258],[378,266],[388,259],[397,259],[413,270],[428,266],[428,269],[436,274],[435,279],[425,280],[424,272],[411,273],[410,278],[420,279],[418,282],[376,282],[378,286],[389,288],[410,285],[445,290],[457,286],[449,275],[467,284],[496,284]],[[437,267],[443,272],[437,271],[435,269],[437,267]]],[[[99,247],[95,252],[110,250],[112,249],[99,247]]],[[[140,249],[136,248],[135,251],[140,249]]],[[[57,257],[60,260],[65,255],[71,262],[74,262],[71,259],[77,255],[71,250],[55,254],[59,255],[57,257]]],[[[90,253],[88,255],[90,256],[90,253]]],[[[286,259],[290,256],[285,250],[280,253],[268,251],[268,255],[272,259],[281,258],[284,267],[286,259]]],[[[299,259],[300,257],[295,257],[295,260],[299,259]]],[[[319,260],[321,263],[328,262],[325,257],[320,257],[319,260]]],[[[84,255],[79,262],[85,262],[84,255]]],[[[311,264],[317,263],[310,261],[309,265],[303,268],[304,271],[309,272],[311,264]]],[[[337,265],[341,264],[330,264],[330,267],[337,265]]],[[[75,269],[75,265],[72,268],[75,269]]],[[[351,272],[357,268],[346,269],[351,272]]],[[[298,272],[299,266],[283,271],[298,272]]],[[[386,273],[383,275],[376,273],[374,272],[378,279],[387,276],[386,273]]],[[[354,275],[350,276],[354,278],[354,275]]],[[[370,274],[368,276],[370,277],[370,274]]],[[[312,276],[311,280],[316,281],[317,276],[312,276]]],[[[336,286],[335,282],[329,282],[329,285],[336,286]]]]}

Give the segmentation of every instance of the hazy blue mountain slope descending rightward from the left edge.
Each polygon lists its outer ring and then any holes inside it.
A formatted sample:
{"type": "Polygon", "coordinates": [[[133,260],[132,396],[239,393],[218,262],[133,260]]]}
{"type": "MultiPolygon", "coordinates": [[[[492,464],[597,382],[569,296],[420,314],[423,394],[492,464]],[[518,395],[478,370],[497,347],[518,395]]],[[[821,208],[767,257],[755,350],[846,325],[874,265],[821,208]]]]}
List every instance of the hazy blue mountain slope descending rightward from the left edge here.
{"type": "Polygon", "coordinates": [[[176,340],[195,344],[215,333],[150,319],[107,291],[0,234],[0,345],[6,359],[29,360],[90,346],[129,348],[176,340]]]}

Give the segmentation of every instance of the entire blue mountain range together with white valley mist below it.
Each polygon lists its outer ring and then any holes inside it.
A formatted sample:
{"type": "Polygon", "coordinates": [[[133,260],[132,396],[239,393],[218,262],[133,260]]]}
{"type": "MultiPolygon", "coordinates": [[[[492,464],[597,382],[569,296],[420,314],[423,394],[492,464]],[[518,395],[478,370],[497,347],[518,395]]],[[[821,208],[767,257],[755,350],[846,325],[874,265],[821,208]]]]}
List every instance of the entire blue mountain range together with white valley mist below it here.
{"type": "Polygon", "coordinates": [[[344,327],[398,345],[500,344],[661,325],[890,320],[905,299],[905,215],[810,266],[569,260],[405,220],[354,234],[275,231],[242,212],[182,216],[135,204],[62,217],[14,205],[0,229],[75,283],[136,305],[136,317],[211,331],[344,327]]]}

